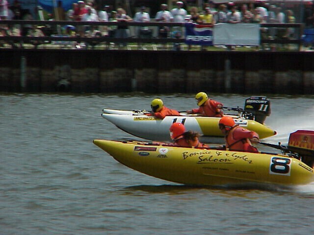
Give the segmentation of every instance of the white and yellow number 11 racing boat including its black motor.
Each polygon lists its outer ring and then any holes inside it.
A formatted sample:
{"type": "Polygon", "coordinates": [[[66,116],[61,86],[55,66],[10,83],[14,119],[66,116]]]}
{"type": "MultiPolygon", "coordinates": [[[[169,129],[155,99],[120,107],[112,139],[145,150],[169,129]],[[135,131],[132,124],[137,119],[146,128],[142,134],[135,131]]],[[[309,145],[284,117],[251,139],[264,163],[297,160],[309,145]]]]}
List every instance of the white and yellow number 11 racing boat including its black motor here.
{"type": "MultiPolygon", "coordinates": [[[[245,100],[244,109],[227,108],[236,114],[230,114],[235,123],[259,134],[260,139],[276,135],[276,131],[264,125],[270,115],[270,101],[265,96],[251,96],[245,100]]],[[[166,116],[164,119],[147,116],[148,111],[104,109],[102,117],[121,130],[147,140],[171,141],[169,127],[174,122],[184,124],[186,130],[199,132],[201,141],[221,143],[223,134],[219,130],[220,118],[201,117],[195,114],[181,113],[181,116],[166,116]]]]}

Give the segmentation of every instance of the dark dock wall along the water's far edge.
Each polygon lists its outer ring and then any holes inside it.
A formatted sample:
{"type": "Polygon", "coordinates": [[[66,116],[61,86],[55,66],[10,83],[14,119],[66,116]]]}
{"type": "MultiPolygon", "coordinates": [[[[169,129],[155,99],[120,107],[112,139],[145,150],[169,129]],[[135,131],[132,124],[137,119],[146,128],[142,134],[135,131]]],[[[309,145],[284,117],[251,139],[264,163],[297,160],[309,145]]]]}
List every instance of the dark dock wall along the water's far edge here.
{"type": "Polygon", "coordinates": [[[314,53],[3,49],[0,91],[314,94],[314,53]]]}

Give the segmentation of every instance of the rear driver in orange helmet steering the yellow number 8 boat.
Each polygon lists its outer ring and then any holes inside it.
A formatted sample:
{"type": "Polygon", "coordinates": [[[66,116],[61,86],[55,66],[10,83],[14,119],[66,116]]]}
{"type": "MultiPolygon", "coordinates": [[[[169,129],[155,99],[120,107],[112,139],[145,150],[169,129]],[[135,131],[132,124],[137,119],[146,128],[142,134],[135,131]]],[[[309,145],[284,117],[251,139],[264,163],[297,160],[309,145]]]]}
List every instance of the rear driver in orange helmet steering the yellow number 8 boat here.
{"type": "Polygon", "coordinates": [[[219,129],[225,135],[226,148],[230,151],[259,152],[256,147],[252,146],[252,143],[260,141],[259,135],[235,124],[233,118],[222,117],[219,120],[219,129]]]}

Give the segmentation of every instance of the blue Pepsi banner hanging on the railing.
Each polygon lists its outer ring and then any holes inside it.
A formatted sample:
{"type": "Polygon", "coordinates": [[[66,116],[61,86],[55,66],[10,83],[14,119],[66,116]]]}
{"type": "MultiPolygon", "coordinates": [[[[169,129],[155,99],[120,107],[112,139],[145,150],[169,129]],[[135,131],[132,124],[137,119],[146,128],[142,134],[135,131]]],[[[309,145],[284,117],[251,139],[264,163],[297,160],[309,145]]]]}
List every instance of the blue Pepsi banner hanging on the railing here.
{"type": "Polygon", "coordinates": [[[212,46],[212,25],[186,23],[185,43],[189,45],[212,46]]]}

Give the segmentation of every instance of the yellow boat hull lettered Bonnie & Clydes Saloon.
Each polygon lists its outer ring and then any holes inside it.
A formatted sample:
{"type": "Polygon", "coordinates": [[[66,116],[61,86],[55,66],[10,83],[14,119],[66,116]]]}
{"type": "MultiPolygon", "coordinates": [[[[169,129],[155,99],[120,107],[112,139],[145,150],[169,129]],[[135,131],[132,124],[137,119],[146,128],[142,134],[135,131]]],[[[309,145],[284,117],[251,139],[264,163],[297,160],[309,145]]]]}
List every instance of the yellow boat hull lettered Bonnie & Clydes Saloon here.
{"type": "Polygon", "coordinates": [[[313,168],[286,155],[144,145],[137,142],[93,142],[121,164],[180,184],[305,185],[314,181],[313,168]]]}

